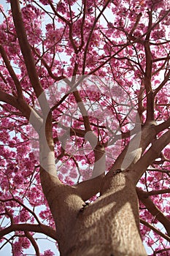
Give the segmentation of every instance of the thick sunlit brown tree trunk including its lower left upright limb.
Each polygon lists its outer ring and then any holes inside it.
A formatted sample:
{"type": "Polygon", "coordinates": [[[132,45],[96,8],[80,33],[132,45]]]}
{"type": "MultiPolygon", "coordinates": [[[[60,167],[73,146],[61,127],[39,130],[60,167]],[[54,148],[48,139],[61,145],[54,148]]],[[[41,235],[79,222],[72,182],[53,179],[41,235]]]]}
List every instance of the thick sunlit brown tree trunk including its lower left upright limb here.
{"type": "Polygon", "coordinates": [[[58,180],[53,140],[49,139],[50,121],[44,130],[40,140],[43,146],[40,177],[55,220],[61,256],[146,256],[139,234],[139,206],[133,178],[136,172],[110,171],[98,190],[101,196],[85,206],[87,199],[83,195],[88,193],[88,186],[80,192],[78,187],[65,186],[58,180]],[[45,138],[47,143],[43,144],[45,138]]]}

